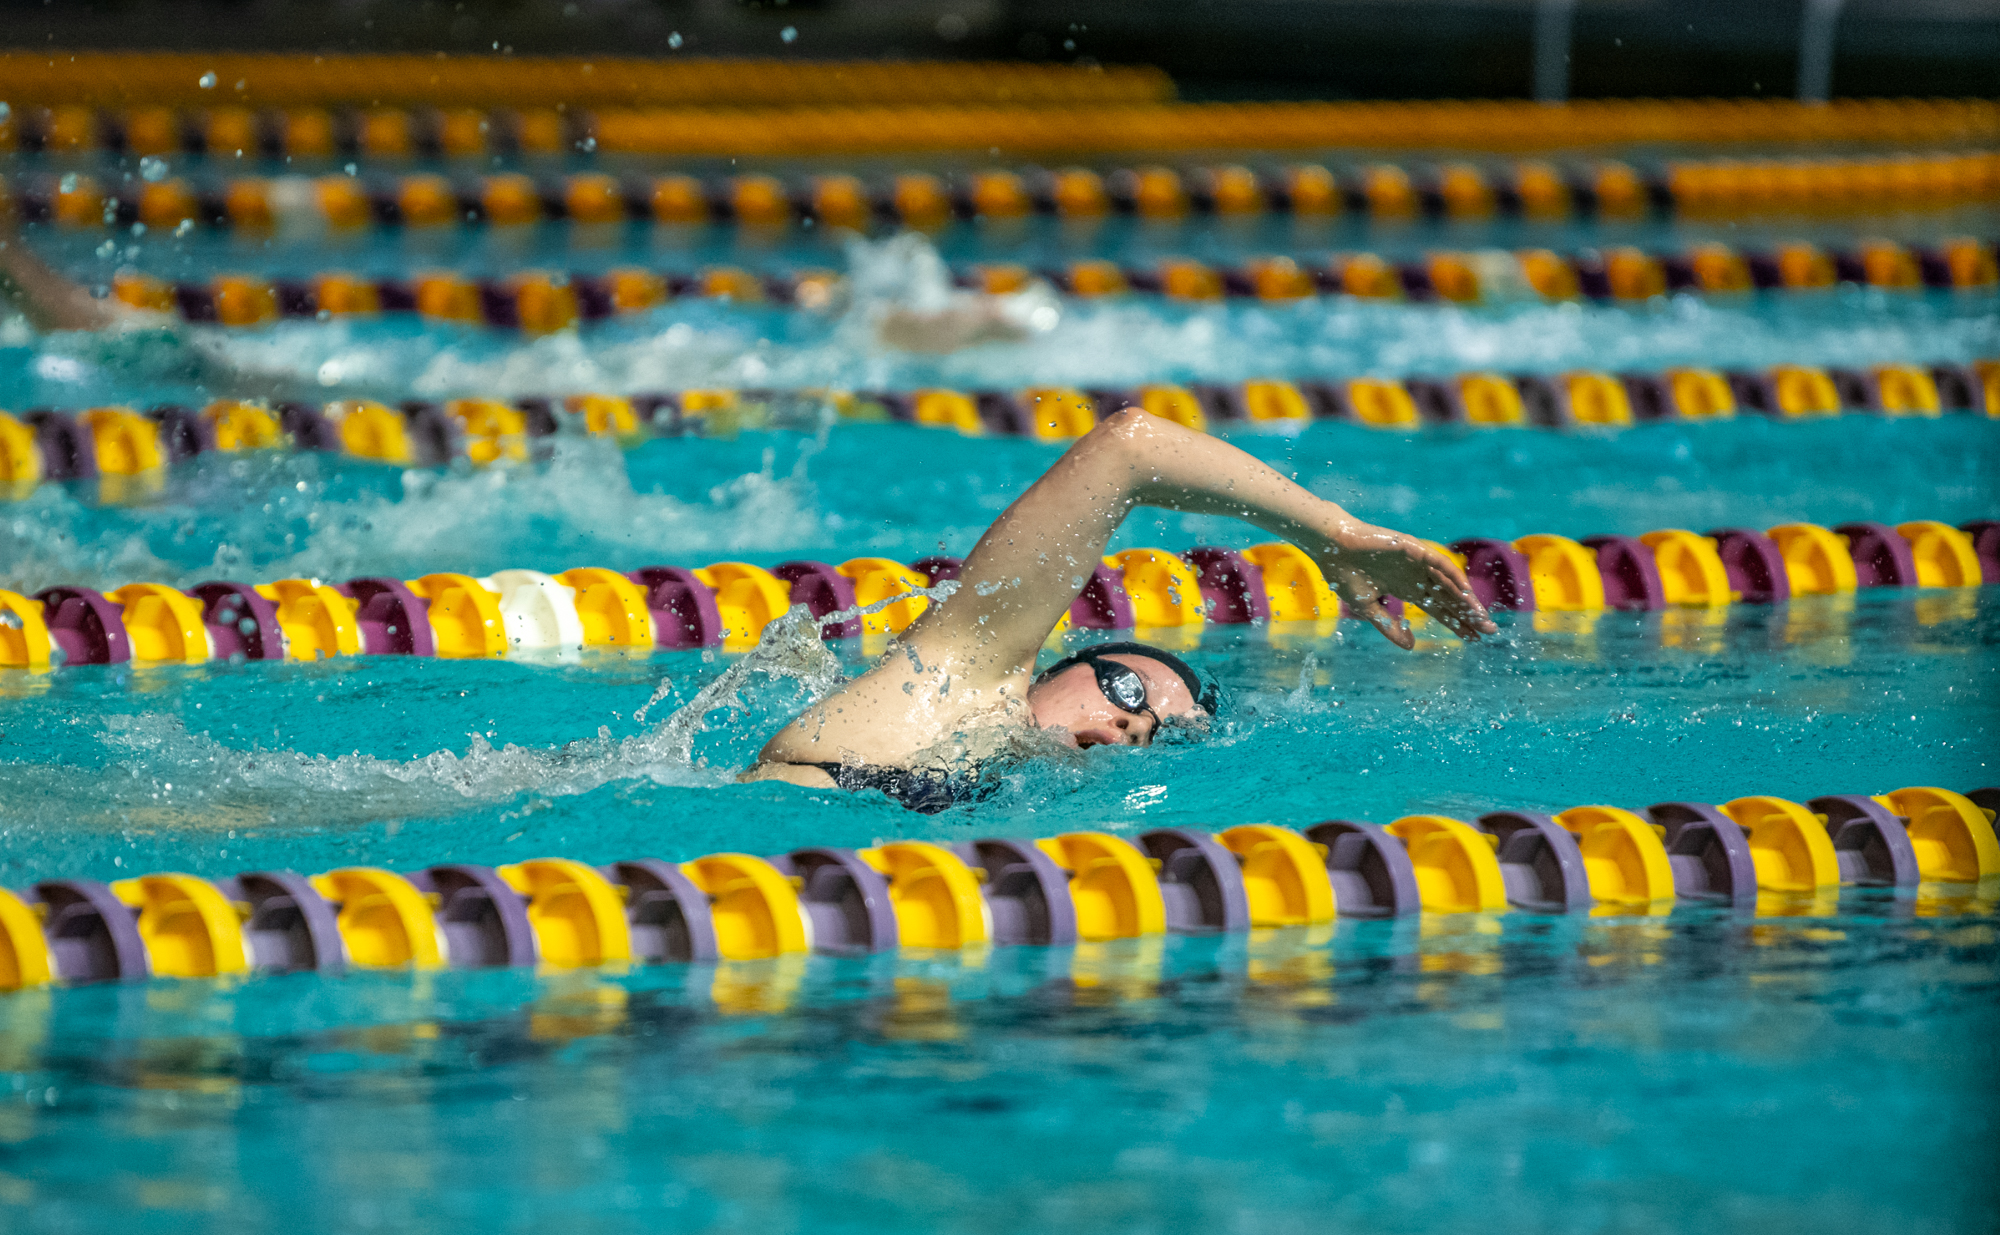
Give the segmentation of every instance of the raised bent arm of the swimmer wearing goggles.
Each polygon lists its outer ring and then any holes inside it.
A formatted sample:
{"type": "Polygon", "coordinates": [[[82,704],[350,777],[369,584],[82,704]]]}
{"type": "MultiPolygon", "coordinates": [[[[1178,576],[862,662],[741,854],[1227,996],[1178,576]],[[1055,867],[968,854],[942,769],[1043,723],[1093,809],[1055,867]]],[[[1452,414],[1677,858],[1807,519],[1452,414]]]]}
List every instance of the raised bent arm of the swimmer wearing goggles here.
{"type": "Polygon", "coordinates": [[[1098,424],[1006,508],[966,558],[960,590],[904,641],[924,661],[960,661],[976,677],[1032,665],[1136,506],[1234,516],[1290,540],[1350,612],[1398,647],[1416,639],[1382,608],[1384,596],[1422,606],[1468,639],[1496,629],[1444,554],[1356,520],[1218,438],[1134,408],[1098,424]]]}

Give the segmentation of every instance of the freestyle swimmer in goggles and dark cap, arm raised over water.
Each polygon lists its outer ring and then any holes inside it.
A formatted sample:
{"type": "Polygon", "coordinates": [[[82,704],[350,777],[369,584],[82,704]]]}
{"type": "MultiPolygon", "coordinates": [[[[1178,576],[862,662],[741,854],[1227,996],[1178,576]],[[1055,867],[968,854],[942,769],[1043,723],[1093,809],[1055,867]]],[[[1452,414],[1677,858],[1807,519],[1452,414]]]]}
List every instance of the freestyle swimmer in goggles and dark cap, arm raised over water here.
{"type": "Polygon", "coordinates": [[[1076,442],[986,530],[958,590],[932,604],[866,673],[764,745],[746,781],[882,789],[912,809],[976,797],[978,765],[1030,731],[1070,747],[1150,745],[1200,725],[1220,691],[1170,651],[1100,643],[1034,675],[1048,633],[1138,506],[1234,516],[1312,556],[1346,612],[1398,647],[1386,596],[1466,639],[1496,625],[1464,572],[1424,542],[1364,524],[1248,454],[1128,408],[1076,442]]]}

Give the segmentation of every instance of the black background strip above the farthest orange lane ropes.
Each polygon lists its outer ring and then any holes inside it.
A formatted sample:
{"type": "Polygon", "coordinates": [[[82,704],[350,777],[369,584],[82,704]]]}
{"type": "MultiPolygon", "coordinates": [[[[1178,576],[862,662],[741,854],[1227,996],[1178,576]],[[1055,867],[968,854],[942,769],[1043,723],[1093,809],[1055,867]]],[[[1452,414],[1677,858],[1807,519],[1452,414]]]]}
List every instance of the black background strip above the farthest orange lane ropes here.
{"type": "MultiPolygon", "coordinates": [[[[1792,96],[1804,6],[1578,0],[1570,92],[1792,96]]],[[[1520,98],[1534,20],[1536,0],[0,0],[0,46],[1096,60],[1158,64],[1184,98],[1520,98]]],[[[2000,0],[1846,0],[1834,32],[1836,96],[2000,94],[2000,0]]]]}

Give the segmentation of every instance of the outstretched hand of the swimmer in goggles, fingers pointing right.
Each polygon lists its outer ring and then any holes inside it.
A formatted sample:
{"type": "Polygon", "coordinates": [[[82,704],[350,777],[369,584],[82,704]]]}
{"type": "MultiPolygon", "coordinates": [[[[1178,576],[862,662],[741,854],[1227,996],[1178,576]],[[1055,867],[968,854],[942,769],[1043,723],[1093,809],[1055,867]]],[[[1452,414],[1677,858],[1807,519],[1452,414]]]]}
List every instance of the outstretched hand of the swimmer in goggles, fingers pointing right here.
{"type": "Polygon", "coordinates": [[[1312,546],[1312,556],[1348,612],[1366,618],[1402,649],[1414,647],[1416,635],[1408,621],[1382,608],[1386,596],[1424,610],[1462,639],[1500,629],[1472,596],[1466,572],[1414,536],[1344,516],[1320,546],[1312,546]]]}

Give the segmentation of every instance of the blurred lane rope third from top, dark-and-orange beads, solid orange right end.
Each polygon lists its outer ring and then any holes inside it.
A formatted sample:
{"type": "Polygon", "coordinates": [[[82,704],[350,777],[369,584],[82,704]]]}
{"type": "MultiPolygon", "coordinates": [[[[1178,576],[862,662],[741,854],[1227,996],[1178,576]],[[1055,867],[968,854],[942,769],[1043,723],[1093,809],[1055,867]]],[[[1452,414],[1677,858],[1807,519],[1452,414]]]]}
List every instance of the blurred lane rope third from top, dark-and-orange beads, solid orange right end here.
{"type": "MultiPolygon", "coordinates": [[[[484,140],[486,134],[478,136],[484,140]]],[[[60,178],[16,176],[10,192],[28,220],[58,220],[78,228],[144,224],[148,230],[200,224],[242,232],[520,226],[556,220],[672,226],[810,222],[850,230],[866,230],[872,224],[928,230],[954,218],[1016,220],[1034,214],[1066,220],[1112,214],[1144,220],[1294,214],[1360,216],[1378,222],[1414,218],[1562,222],[1950,210],[2000,198],[2000,152],[1836,160],[1664,160],[1642,168],[1618,160],[1568,166],[1528,160],[1504,166],[1448,162],[1334,170],[1320,164],[1264,170],[1226,164],[1186,172],[1168,166],[1110,172],[986,168],[950,176],[906,170],[868,178],[852,172],[796,178],[762,172],[716,178],[424,172],[322,178],[198,176],[124,186],[72,172],[60,178]]]]}

